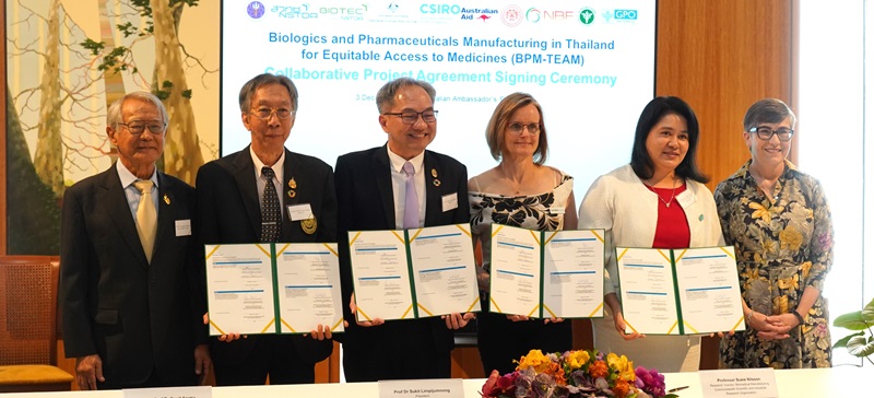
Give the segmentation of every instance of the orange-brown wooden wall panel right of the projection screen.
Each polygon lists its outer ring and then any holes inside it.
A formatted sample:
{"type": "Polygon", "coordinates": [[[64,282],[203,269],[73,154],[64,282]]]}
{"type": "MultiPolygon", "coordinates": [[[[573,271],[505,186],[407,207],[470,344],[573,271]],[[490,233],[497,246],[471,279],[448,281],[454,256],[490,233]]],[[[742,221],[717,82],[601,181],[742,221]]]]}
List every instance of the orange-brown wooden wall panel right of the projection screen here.
{"type": "MultiPolygon", "coordinates": [[[[698,164],[712,190],[749,159],[743,116],[755,101],[793,101],[792,0],[659,1],[656,93],[698,116],[698,164]]],[[[794,152],[794,151],[793,151],[794,152]]]]}

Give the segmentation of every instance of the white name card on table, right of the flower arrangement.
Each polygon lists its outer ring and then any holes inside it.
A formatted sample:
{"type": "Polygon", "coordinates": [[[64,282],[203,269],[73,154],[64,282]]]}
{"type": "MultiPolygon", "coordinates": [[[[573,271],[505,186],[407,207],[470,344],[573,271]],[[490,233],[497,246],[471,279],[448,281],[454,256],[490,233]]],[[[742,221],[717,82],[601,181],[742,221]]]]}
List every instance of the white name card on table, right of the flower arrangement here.
{"type": "Polygon", "coordinates": [[[698,377],[705,398],[779,398],[770,367],[700,371],[698,377]]]}

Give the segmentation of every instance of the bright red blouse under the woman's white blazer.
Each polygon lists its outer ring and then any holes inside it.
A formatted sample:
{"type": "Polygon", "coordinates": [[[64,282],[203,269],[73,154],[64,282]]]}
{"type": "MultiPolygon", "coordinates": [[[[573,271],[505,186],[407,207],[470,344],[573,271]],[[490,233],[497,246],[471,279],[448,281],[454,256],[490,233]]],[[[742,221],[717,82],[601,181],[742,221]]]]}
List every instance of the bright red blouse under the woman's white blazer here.
{"type": "MultiPolygon", "coordinates": [[[[646,184],[645,184],[646,185],[646,184]]],[[[653,188],[649,190],[659,196],[659,220],[656,222],[656,237],[652,239],[654,248],[686,248],[689,247],[689,224],[686,212],[676,200],[676,197],[686,190],[686,184],[676,189],[653,188]]]]}

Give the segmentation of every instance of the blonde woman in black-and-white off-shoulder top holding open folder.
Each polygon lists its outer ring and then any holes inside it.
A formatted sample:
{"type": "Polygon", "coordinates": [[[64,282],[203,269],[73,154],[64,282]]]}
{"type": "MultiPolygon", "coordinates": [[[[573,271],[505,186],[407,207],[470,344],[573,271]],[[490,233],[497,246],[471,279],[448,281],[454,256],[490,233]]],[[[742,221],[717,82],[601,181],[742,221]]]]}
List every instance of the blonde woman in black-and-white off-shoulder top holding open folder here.
{"type": "MultiPolygon", "coordinates": [[[[575,230],[574,178],[545,166],[546,127],[540,104],[529,94],[513,93],[495,108],[486,127],[492,156],[500,163],[468,182],[471,231],[483,250],[477,267],[483,308],[487,308],[491,224],[535,231],[575,230]]],[[[571,349],[570,321],[530,319],[522,315],[483,313],[477,317],[477,346],[485,374],[516,368],[532,349],[571,349]]]]}

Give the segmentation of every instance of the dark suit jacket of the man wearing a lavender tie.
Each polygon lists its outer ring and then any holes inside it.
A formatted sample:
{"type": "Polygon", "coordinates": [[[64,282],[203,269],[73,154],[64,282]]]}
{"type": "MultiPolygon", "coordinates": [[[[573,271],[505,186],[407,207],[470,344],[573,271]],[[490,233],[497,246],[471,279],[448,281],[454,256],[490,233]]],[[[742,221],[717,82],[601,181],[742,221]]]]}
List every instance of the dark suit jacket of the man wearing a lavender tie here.
{"type": "MultiPolygon", "coordinates": [[[[448,354],[453,347],[452,331],[439,317],[421,320],[388,321],[373,328],[355,324],[349,305],[352,295],[352,273],[349,260],[349,231],[394,230],[394,196],[391,187],[391,164],[386,145],[353,152],[336,160],[336,197],[340,208],[338,239],[340,276],[343,285],[344,317],[350,323],[344,346],[379,344],[391,348],[391,341],[416,323],[432,324],[435,347],[448,354]]],[[[452,157],[425,151],[425,226],[463,224],[470,222],[468,206],[468,169],[452,157]],[[436,174],[436,177],[435,177],[436,174]],[[438,182],[438,183],[436,183],[438,182]],[[458,207],[442,211],[442,197],[456,194],[458,207]]],[[[422,353],[427,355],[427,353],[422,353]]]]}

